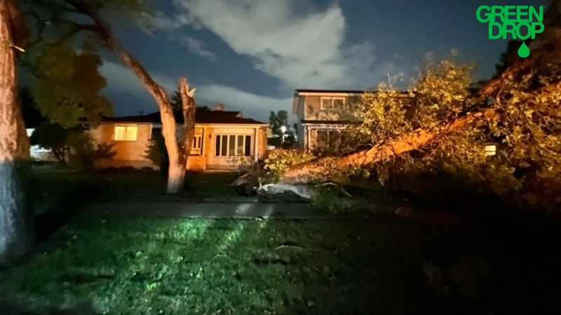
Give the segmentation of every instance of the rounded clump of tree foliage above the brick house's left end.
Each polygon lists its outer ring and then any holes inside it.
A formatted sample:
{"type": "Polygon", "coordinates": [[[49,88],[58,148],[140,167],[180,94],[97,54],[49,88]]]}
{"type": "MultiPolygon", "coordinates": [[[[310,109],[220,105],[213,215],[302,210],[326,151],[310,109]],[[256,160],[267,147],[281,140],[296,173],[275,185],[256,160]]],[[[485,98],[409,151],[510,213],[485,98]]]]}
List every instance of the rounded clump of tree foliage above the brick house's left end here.
{"type": "Polygon", "coordinates": [[[98,69],[101,58],[77,53],[69,44],[50,46],[32,67],[38,79],[34,88],[36,107],[51,123],[74,127],[87,120],[91,127],[111,114],[111,103],[100,94],[106,81],[98,69]]]}

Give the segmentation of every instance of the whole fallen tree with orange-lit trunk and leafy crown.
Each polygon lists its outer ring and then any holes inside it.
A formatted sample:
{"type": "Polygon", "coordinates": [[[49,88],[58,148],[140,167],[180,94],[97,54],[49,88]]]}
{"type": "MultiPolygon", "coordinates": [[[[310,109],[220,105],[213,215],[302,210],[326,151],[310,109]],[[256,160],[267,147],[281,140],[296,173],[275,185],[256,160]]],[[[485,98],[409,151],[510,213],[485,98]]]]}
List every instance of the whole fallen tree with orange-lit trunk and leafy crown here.
{"type": "Polygon", "coordinates": [[[337,180],[364,169],[374,169],[383,181],[425,167],[461,169],[498,193],[522,185],[541,193],[553,188],[561,179],[561,28],[552,18],[559,12],[555,1],[529,57],[516,59],[475,91],[473,66],[447,57],[429,62],[407,97],[385,85],[367,92],[356,111],[362,123],[349,132],[367,139],[370,148],[296,165],[280,181],[337,180]],[[499,146],[493,158],[485,155],[487,141],[499,146]]]}

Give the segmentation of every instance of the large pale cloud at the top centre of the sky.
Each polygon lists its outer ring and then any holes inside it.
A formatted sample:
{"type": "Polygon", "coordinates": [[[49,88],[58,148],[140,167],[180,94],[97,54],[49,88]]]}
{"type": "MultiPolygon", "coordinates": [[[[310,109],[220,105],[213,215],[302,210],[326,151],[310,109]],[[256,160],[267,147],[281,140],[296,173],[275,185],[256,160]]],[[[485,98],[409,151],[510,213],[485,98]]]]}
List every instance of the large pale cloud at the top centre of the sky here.
{"type": "Polygon", "coordinates": [[[346,20],[337,5],[316,10],[297,0],[174,3],[180,13],[161,22],[162,29],[182,23],[209,29],[285,89],[364,87],[388,65],[377,60],[372,43],[346,41],[346,20]]]}

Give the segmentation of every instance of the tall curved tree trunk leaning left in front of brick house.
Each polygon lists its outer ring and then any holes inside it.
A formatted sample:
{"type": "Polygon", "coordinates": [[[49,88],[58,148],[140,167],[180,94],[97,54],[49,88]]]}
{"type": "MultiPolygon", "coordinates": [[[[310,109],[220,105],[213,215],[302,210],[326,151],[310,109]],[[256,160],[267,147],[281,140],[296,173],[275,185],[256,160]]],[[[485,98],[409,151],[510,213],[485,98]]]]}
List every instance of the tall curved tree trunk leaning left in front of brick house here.
{"type": "Polygon", "coordinates": [[[100,36],[113,48],[126,64],[140,79],[142,85],[152,94],[160,109],[162,122],[162,134],[165,142],[165,148],[168,149],[168,188],[167,193],[177,193],[183,188],[185,177],[185,163],[182,163],[180,155],[182,155],[177,143],[177,130],[175,125],[175,117],[173,108],[170,103],[170,97],[163,88],[154,81],[144,66],[140,64],[130,53],[121,45],[119,40],[114,36],[109,25],[97,14],[95,9],[90,8],[88,3],[83,0],[67,0],[69,4],[74,6],[79,13],[83,13],[92,18],[95,25],[100,28],[100,36]]]}

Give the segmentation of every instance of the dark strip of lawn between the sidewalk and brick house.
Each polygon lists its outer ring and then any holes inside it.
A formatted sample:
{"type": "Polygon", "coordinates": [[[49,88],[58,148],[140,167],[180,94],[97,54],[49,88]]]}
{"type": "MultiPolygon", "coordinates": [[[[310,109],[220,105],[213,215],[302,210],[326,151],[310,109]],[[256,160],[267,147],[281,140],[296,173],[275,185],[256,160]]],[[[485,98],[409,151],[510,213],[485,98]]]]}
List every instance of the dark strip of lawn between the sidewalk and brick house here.
{"type": "MultiPolygon", "coordinates": [[[[178,195],[165,194],[159,172],[70,172],[66,169],[34,170],[31,194],[35,204],[53,204],[76,196],[95,202],[186,202],[243,200],[229,183],[232,172],[189,173],[186,188],[178,195]]],[[[247,199],[247,198],[246,198],[247,199]]]]}

